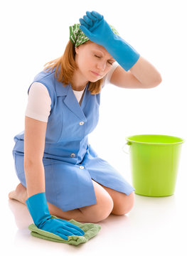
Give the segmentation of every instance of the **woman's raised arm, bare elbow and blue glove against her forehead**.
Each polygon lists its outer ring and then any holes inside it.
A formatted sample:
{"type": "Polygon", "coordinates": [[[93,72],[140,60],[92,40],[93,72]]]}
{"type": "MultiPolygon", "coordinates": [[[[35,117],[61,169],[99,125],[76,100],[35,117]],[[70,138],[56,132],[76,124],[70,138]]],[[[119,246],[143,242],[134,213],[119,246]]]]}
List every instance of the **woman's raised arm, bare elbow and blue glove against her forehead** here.
{"type": "Polygon", "coordinates": [[[113,33],[104,17],[96,11],[80,18],[80,29],[91,41],[104,46],[117,60],[110,82],[119,87],[149,88],[159,85],[161,75],[151,63],[142,58],[132,46],[113,33]]]}

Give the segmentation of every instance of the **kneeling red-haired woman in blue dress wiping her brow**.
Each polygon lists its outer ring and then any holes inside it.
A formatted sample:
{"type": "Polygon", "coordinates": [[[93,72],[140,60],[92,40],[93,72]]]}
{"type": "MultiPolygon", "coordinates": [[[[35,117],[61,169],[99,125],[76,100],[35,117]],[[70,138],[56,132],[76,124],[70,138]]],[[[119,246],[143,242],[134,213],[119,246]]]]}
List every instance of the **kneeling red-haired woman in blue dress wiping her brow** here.
{"type": "Polygon", "coordinates": [[[28,88],[25,130],[14,137],[21,183],[9,198],[26,203],[38,228],[64,239],[83,231],[50,214],[97,223],[110,213],[128,213],[134,203],[134,188],[97,156],[87,139],[98,122],[106,80],[129,88],[161,82],[154,66],[102,15],[86,14],[70,27],[64,55],[47,63],[28,88]]]}

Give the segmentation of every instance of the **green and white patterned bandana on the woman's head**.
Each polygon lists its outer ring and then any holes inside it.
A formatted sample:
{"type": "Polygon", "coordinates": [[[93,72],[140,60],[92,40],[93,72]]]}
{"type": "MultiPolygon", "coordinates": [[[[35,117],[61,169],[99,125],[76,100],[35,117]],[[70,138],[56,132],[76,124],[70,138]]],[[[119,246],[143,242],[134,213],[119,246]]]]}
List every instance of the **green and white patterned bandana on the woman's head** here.
{"type": "MultiPolygon", "coordinates": [[[[75,45],[75,47],[80,46],[82,43],[85,43],[86,41],[90,40],[82,32],[82,30],[79,28],[79,26],[80,26],[80,23],[70,26],[70,41],[72,41],[72,43],[75,45]]],[[[109,26],[110,26],[110,28],[112,28],[112,31],[116,35],[119,35],[117,30],[112,25],[109,25],[109,26]]]]}

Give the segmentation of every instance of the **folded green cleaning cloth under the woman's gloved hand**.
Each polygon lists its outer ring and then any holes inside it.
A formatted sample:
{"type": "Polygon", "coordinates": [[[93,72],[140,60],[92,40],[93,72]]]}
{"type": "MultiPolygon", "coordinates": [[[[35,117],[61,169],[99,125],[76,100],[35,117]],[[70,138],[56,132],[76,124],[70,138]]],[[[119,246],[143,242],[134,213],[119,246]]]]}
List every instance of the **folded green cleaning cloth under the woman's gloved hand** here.
{"type": "MultiPolygon", "coordinates": [[[[52,218],[57,218],[54,215],[51,216],[52,218]]],[[[101,229],[100,225],[94,223],[79,223],[78,221],[73,219],[69,220],[69,222],[81,228],[85,232],[85,235],[70,235],[68,236],[68,240],[65,240],[63,238],[60,238],[60,236],[58,235],[37,228],[35,224],[29,225],[28,229],[31,230],[31,235],[35,236],[36,238],[42,238],[53,242],[64,242],[69,245],[79,245],[80,243],[87,242],[88,240],[90,240],[90,238],[93,238],[95,235],[97,235],[97,233],[101,229]]]]}

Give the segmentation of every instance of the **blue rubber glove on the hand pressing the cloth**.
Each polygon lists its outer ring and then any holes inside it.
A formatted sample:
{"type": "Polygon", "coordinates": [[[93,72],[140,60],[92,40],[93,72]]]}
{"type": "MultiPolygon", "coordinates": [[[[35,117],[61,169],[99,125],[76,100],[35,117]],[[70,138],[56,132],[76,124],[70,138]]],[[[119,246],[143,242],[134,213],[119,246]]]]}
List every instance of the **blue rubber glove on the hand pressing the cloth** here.
{"type": "Polygon", "coordinates": [[[68,240],[69,235],[85,235],[84,231],[78,226],[69,223],[67,220],[51,218],[46,200],[46,193],[37,193],[26,200],[26,206],[33,218],[37,228],[48,231],[60,238],[68,240]]]}

